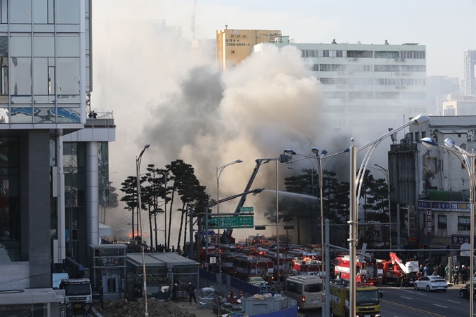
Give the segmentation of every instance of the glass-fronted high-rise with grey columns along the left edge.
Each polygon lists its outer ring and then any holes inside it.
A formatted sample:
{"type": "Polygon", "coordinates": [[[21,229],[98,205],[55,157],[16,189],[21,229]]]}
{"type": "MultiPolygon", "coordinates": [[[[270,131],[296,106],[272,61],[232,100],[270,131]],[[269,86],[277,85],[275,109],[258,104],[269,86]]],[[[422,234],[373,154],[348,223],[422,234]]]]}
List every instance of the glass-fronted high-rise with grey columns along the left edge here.
{"type": "MultiPolygon", "coordinates": [[[[45,303],[61,297],[48,291],[52,273],[68,258],[87,263],[99,243],[115,139],[111,115],[87,118],[91,2],[0,1],[0,290],[34,288],[45,303]]],[[[50,307],[31,297],[15,304],[50,307]]]]}

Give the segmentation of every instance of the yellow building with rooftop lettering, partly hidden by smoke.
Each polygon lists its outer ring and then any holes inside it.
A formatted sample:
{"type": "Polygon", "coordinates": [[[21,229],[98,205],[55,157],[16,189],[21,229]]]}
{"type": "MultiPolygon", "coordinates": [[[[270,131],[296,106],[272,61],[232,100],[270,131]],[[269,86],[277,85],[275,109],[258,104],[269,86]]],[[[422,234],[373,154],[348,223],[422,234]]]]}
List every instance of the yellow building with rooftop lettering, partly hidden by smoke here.
{"type": "Polygon", "coordinates": [[[216,66],[225,71],[251,55],[253,45],[274,42],[281,37],[280,30],[222,29],[216,31],[216,66]]]}

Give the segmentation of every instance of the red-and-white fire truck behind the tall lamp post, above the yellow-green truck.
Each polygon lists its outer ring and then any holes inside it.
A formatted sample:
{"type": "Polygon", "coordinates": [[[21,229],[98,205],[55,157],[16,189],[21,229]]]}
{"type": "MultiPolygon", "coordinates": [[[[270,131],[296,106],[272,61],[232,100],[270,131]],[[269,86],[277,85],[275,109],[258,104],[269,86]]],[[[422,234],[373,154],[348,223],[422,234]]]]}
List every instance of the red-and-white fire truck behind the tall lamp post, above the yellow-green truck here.
{"type": "MultiPolygon", "coordinates": [[[[367,256],[365,258],[368,258],[367,256]]],[[[349,255],[335,258],[334,274],[337,279],[350,278],[349,255]]],[[[356,282],[358,283],[381,283],[384,275],[384,263],[381,260],[359,262],[356,258],[356,282]]]]}

